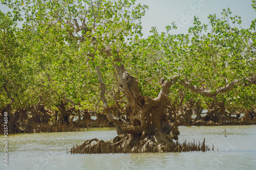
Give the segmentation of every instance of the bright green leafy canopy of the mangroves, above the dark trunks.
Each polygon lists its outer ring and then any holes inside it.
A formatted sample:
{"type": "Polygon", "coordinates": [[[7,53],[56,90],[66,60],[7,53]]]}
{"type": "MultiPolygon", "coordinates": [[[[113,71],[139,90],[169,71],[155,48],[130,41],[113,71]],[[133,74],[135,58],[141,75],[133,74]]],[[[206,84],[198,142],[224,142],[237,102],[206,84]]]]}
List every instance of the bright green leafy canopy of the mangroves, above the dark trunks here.
{"type": "Polygon", "coordinates": [[[256,107],[256,19],[250,28],[241,28],[240,17],[228,9],[222,18],[209,15],[205,24],[195,17],[188,34],[172,34],[174,23],[166,33],[153,28],[151,36],[141,38],[147,6],[135,0],[2,3],[13,12],[1,12],[0,19],[0,108],[39,102],[56,110],[65,101],[102,109],[97,66],[109,103],[124,106],[113,67],[117,56],[138,79],[143,95],[155,98],[161,78],[177,75],[168,95],[172,102],[194,100],[204,107],[215,102],[229,110],[256,107]],[[230,83],[232,88],[221,91],[230,83]]]}

